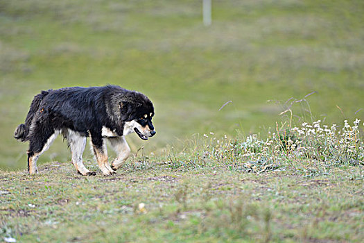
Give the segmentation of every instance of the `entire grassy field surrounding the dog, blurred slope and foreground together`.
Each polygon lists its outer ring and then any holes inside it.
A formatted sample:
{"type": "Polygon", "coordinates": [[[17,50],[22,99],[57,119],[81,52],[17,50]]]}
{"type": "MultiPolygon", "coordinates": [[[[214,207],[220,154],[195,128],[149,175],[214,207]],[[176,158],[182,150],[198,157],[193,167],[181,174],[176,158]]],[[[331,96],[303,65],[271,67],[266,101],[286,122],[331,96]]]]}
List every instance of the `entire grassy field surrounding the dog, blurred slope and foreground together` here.
{"type": "Polygon", "coordinates": [[[212,6],[0,1],[0,241],[363,240],[364,1],[212,6]],[[33,96],[108,83],[150,97],[157,135],[115,176],[88,149],[77,175],[59,137],[28,176],[33,96]]]}

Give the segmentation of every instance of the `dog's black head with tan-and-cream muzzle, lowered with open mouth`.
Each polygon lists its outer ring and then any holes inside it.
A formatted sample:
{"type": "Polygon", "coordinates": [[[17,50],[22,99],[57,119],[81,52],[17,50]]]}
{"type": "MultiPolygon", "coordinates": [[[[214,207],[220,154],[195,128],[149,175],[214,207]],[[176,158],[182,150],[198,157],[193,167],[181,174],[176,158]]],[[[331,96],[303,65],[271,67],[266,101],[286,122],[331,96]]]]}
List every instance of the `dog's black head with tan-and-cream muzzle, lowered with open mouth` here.
{"type": "Polygon", "coordinates": [[[135,132],[142,140],[155,135],[152,123],[153,103],[144,94],[132,92],[127,101],[121,103],[121,119],[124,121],[123,135],[135,132]]]}

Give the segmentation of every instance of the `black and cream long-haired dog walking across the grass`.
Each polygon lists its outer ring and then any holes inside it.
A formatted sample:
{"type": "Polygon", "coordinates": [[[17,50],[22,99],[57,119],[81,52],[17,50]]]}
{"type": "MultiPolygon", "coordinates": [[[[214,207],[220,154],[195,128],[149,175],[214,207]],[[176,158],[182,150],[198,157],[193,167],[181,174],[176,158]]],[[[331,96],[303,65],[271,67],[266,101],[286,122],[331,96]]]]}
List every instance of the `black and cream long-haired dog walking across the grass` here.
{"type": "Polygon", "coordinates": [[[29,141],[28,172],[37,174],[37,159],[60,133],[71,150],[72,163],[79,174],[94,176],[83,165],[86,139],[90,137],[98,167],[104,175],[116,173],[130,156],[125,135],[137,133],[142,140],[155,135],[152,101],[140,92],[116,85],[104,87],[64,87],[35,95],[24,124],[14,137],[29,141]],[[107,161],[106,140],[117,156],[107,161]]]}

